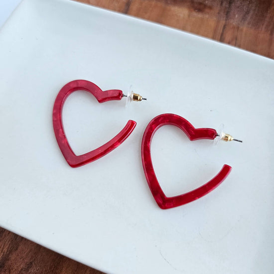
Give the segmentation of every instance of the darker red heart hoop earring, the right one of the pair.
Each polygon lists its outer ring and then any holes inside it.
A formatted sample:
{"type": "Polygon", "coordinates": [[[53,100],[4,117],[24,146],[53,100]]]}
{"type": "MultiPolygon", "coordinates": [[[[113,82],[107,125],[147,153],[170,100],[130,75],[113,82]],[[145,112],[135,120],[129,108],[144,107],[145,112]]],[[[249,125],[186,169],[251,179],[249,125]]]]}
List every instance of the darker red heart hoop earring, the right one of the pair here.
{"type": "Polygon", "coordinates": [[[186,203],[192,202],[196,199],[201,198],[206,195],[214,188],[216,188],[219,184],[221,184],[224,179],[230,173],[232,167],[225,164],[221,171],[209,182],[198,187],[190,192],[181,194],[179,196],[174,197],[166,197],[163,193],[159,182],[156,178],[152,161],[150,155],[150,144],[154,133],[164,125],[173,125],[181,129],[187,137],[191,140],[199,140],[199,139],[222,139],[225,141],[236,140],[232,136],[224,133],[217,134],[214,129],[195,129],[187,120],[184,118],[175,115],[175,114],[162,114],[155,118],[153,118],[149,124],[147,125],[141,143],[141,158],[142,158],[142,166],[144,170],[144,174],[151,190],[151,193],[157,202],[158,206],[161,209],[168,209],[180,205],[184,205],[186,203]]]}

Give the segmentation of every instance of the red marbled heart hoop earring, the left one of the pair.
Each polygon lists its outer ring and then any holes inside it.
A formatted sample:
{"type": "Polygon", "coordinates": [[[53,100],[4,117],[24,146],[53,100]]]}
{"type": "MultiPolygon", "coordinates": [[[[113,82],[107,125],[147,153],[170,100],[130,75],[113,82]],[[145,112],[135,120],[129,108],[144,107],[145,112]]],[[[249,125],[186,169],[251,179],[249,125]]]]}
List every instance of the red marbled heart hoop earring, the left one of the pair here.
{"type": "Polygon", "coordinates": [[[104,103],[112,100],[121,100],[123,97],[127,97],[127,102],[146,100],[145,98],[142,98],[140,95],[133,92],[129,93],[128,96],[126,96],[121,90],[102,91],[94,83],[86,80],[75,80],[66,84],[59,91],[55,99],[52,113],[52,121],[54,134],[58,145],[66,161],[71,167],[78,167],[103,157],[104,155],[115,149],[117,146],[119,146],[125,139],[127,139],[136,127],[136,122],[129,120],[125,128],[107,143],[85,154],[75,155],[68,143],[67,137],[64,132],[62,123],[62,109],[67,97],[77,90],[84,90],[91,93],[99,103],[104,103]]]}

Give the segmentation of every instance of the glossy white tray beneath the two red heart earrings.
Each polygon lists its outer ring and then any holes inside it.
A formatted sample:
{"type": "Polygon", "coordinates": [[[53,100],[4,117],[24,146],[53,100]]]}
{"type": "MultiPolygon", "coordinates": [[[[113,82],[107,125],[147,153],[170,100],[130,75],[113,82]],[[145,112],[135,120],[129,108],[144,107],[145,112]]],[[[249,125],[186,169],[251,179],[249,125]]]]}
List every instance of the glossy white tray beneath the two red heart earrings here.
{"type": "Polygon", "coordinates": [[[273,60],[68,0],[24,0],[0,31],[0,87],[0,226],[107,273],[273,273],[273,60]],[[133,84],[147,101],[126,109],[71,95],[64,125],[78,154],[137,122],[117,149],[73,169],[51,117],[75,79],[125,93],[133,84]],[[213,146],[161,128],[152,159],[167,195],[233,167],[213,192],[169,210],[140,159],[143,131],[162,113],[224,123],[244,140],[213,146]]]}

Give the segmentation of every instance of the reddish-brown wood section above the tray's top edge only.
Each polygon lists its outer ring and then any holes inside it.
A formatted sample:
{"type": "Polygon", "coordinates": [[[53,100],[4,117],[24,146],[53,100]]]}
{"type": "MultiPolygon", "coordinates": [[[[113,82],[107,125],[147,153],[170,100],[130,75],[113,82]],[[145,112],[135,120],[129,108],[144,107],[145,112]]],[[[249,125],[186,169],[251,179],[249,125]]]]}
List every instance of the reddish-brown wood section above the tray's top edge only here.
{"type": "Polygon", "coordinates": [[[274,59],[274,0],[79,0],[274,59]]]}

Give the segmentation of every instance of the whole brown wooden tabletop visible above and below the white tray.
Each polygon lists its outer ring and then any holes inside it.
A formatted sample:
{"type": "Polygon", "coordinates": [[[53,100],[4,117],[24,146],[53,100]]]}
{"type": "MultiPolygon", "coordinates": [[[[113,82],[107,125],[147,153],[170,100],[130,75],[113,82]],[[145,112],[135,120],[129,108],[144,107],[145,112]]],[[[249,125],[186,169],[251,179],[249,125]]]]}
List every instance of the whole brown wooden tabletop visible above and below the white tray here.
{"type": "MultiPolygon", "coordinates": [[[[274,0],[79,0],[274,59],[274,0]]],[[[0,274],[101,274],[0,228],[0,274]]]]}

